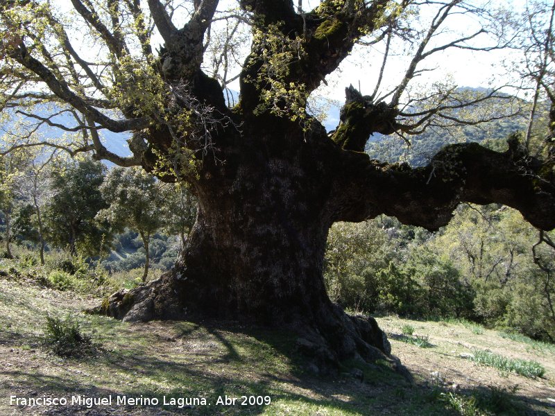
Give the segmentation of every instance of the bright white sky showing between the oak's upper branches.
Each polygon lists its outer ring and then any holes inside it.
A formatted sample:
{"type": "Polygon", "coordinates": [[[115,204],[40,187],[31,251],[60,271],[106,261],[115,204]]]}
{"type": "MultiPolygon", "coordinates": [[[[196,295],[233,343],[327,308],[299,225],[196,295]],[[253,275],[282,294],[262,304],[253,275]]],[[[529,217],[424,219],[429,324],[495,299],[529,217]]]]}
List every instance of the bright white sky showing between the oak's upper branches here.
{"type": "MultiPolygon", "coordinates": [[[[52,1],[60,7],[60,10],[64,14],[67,14],[71,9],[71,4],[67,0],[52,1]]],[[[473,3],[484,3],[486,0],[472,1],[473,3]]],[[[511,10],[524,10],[526,2],[527,0],[499,0],[490,1],[489,3],[497,7],[503,6],[511,10]]],[[[319,3],[320,1],[318,0],[303,0],[303,8],[305,8],[305,10],[311,10],[311,8],[318,6],[319,3]]],[[[219,10],[229,9],[233,5],[237,6],[237,1],[221,0],[219,10]]],[[[422,24],[425,25],[425,22],[431,20],[432,17],[433,14],[431,12],[423,11],[418,21],[422,21],[422,24]]],[[[428,47],[433,47],[434,42],[449,42],[455,38],[457,33],[474,33],[477,31],[477,28],[479,28],[476,19],[461,14],[448,17],[445,21],[445,27],[448,30],[443,33],[443,35],[438,36],[435,41],[432,41],[428,47]]],[[[84,28],[83,30],[86,29],[84,28]]],[[[75,42],[78,43],[79,40],[75,40],[75,42]]],[[[487,42],[490,42],[488,35],[481,35],[476,38],[474,46],[484,46],[487,42]]],[[[155,35],[152,43],[153,46],[160,46],[162,43],[160,36],[155,35]]],[[[248,46],[247,44],[245,45],[245,53],[248,51],[248,46]]],[[[402,44],[394,43],[391,49],[400,52],[402,46],[402,44]]],[[[322,85],[321,88],[315,92],[315,95],[333,100],[339,105],[343,103],[345,99],[345,87],[348,87],[350,84],[360,88],[363,94],[371,94],[375,86],[379,67],[382,64],[383,51],[383,43],[377,46],[355,46],[352,54],[341,63],[339,70],[327,76],[328,85],[322,85]]],[[[87,51],[87,47],[83,47],[80,52],[83,53],[85,59],[87,59],[87,55],[92,56],[96,54],[94,48],[87,51]]],[[[398,85],[408,67],[411,53],[413,53],[413,51],[409,48],[408,51],[392,55],[391,58],[388,59],[388,66],[386,67],[384,80],[382,82],[383,92],[398,85]]],[[[490,80],[492,80],[492,78],[496,79],[496,83],[510,82],[511,80],[507,78],[506,69],[504,69],[501,62],[511,59],[513,58],[511,58],[509,51],[484,53],[451,49],[432,55],[422,62],[419,67],[420,69],[433,69],[436,67],[437,69],[422,73],[421,76],[414,79],[413,85],[425,89],[432,85],[432,83],[452,80],[452,83],[464,87],[488,87],[490,86],[490,80]]],[[[238,82],[230,85],[230,89],[239,90],[238,82]]],[[[326,124],[328,128],[330,125],[339,121],[336,120],[336,117],[337,111],[335,109],[327,120],[326,124]]]]}

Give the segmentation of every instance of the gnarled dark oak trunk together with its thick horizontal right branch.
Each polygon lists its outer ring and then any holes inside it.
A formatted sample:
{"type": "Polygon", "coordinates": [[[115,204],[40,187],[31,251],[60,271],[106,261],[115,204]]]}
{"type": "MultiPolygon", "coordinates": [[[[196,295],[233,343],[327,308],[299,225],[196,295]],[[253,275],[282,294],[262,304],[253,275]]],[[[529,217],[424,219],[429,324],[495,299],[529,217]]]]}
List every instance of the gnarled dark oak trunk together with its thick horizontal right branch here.
{"type": "MultiPolygon", "coordinates": [[[[176,268],[118,293],[105,312],[123,320],[237,319],[300,333],[299,349],[329,368],[390,353],[374,320],[345,315],[323,281],[328,229],[379,214],[437,229],[459,202],[500,202],[545,229],[555,226],[553,175],[512,142],[506,153],[447,146],[425,168],[383,164],[266,114],[246,118],[222,143],[225,164],[205,160],[198,217],[176,268]],[[544,172],[545,173],[545,172],[544,172]]],[[[340,129],[338,129],[340,131],[340,129]]],[[[551,171],[550,171],[551,172],[551,171]]]]}

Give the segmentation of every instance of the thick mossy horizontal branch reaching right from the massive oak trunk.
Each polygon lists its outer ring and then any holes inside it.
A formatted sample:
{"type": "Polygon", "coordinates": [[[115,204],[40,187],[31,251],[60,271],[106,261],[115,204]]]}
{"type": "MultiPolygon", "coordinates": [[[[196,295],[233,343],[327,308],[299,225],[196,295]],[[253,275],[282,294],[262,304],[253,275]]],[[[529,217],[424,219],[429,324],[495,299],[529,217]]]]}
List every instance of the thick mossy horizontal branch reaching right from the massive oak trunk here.
{"type": "Polygon", "coordinates": [[[499,203],[518,209],[540,229],[555,227],[554,164],[525,157],[518,142],[498,153],[479,144],[445,147],[423,168],[383,164],[343,151],[343,169],[330,209],[333,220],[361,221],[379,214],[404,224],[438,229],[460,202],[499,203]]]}

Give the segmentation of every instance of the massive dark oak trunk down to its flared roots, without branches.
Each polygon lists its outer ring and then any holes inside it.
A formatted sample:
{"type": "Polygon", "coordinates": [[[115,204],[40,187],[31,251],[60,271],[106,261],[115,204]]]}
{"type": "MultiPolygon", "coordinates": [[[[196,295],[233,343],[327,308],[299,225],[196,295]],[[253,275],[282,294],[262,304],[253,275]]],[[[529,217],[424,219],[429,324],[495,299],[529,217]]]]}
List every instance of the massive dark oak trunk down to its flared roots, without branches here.
{"type": "Polygon", "coordinates": [[[275,138],[259,136],[237,159],[204,166],[196,223],[176,268],[114,294],[104,312],[130,321],[211,317],[288,327],[319,368],[353,356],[386,357],[390,347],[375,320],[346,315],[325,291],[334,212],[326,205],[330,171],[321,162],[334,145],[288,139],[272,149],[260,144],[275,138]]]}

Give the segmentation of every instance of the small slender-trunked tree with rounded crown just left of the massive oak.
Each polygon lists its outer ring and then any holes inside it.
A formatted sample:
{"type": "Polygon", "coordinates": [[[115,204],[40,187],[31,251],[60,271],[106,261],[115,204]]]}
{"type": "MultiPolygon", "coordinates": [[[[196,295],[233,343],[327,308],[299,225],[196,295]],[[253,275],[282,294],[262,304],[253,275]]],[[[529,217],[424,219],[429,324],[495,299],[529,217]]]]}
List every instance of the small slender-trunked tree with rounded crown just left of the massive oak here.
{"type": "Polygon", "coordinates": [[[148,243],[164,225],[160,215],[164,202],[160,183],[139,168],[113,168],[101,186],[101,193],[110,207],[100,211],[98,217],[108,220],[114,230],[129,227],[139,232],[146,257],[142,280],[146,281],[150,263],[148,243]]]}

